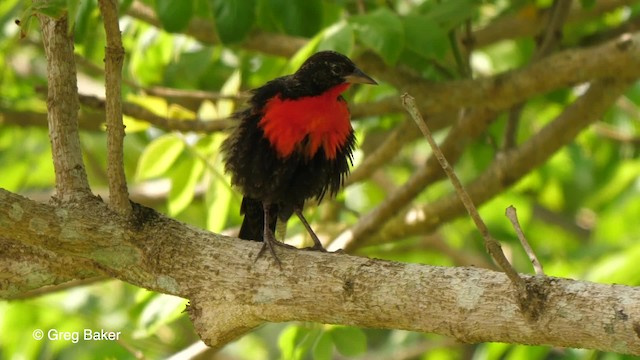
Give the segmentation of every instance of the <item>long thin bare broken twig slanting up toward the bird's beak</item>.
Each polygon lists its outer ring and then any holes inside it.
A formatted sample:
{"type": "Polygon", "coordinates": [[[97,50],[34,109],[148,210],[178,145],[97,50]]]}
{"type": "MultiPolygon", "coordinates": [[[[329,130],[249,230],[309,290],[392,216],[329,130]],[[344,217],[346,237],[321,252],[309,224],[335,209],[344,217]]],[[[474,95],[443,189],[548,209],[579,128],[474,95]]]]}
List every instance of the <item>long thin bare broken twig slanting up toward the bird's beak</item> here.
{"type": "Polygon", "coordinates": [[[422,134],[427,139],[427,142],[429,142],[429,145],[431,146],[431,149],[435,157],[438,159],[440,166],[442,166],[442,170],[444,170],[444,172],[449,177],[451,184],[453,184],[453,187],[456,189],[456,192],[458,193],[458,197],[464,204],[465,208],[467,209],[467,212],[471,216],[471,219],[473,219],[473,222],[476,224],[476,227],[482,234],[482,237],[484,238],[485,246],[487,251],[489,252],[489,255],[491,255],[491,257],[496,262],[496,264],[498,264],[498,266],[502,269],[502,271],[504,271],[507,277],[509,277],[513,285],[518,290],[521,298],[526,298],[527,290],[526,290],[526,284],[524,280],[520,277],[520,275],[518,275],[518,273],[513,269],[513,267],[507,260],[507,258],[504,256],[504,253],[502,252],[502,248],[500,247],[500,243],[496,239],[494,239],[493,236],[491,236],[491,234],[489,233],[489,229],[487,228],[487,225],[484,223],[484,221],[480,217],[480,214],[478,214],[478,210],[473,205],[473,201],[471,200],[471,197],[465,191],[464,187],[462,186],[462,183],[460,182],[460,179],[458,179],[455,172],[449,165],[449,162],[444,157],[444,154],[442,154],[442,151],[440,151],[438,144],[435,142],[435,140],[431,136],[431,131],[429,130],[427,123],[424,121],[424,119],[422,118],[422,115],[418,111],[418,108],[415,103],[415,99],[411,95],[404,93],[402,95],[402,103],[404,107],[407,109],[407,111],[409,112],[409,114],[411,115],[411,117],[413,118],[413,120],[416,122],[418,127],[420,128],[420,131],[422,131],[422,134]]]}

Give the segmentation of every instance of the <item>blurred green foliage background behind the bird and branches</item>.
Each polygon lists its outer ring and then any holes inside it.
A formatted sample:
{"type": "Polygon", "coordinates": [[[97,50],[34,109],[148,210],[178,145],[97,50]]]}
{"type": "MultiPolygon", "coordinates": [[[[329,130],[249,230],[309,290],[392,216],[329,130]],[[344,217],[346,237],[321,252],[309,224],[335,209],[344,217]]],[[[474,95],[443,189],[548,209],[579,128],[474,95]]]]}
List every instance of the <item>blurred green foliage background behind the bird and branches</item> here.
{"type": "MultiPolygon", "coordinates": [[[[186,223],[233,234],[241,222],[240,196],[230,188],[219,157],[226,133],[177,131],[180,125],[176,123],[189,127],[188,120],[200,119],[218,124],[217,119],[242,107],[247,90],[295,71],[318,49],[340,51],[356,63],[367,54],[381,59],[389,69],[434,82],[525,67],[539,34],[527,30],[527,24],[548,11],[551,3],[121,1],[120,27],[127,53],[124,100],[173,119],[163,125],[142,115],[125,116],[125,167],[132,199],[186,223]],[[464,34],[491,29],[505,20],[522,24],[524,33],[499,34],[464,54],[457,41],[464,34]],[[168,91],[173,89],[185,92],[168,91]]],[[[564,26],[561,50],[610,40],[620,29],[633,29],[640,23],[636,1],[583,0],[573,5],[572,13],[577,15],[564,26]]],[[[104,97],[105,36],[96,0],[59,0],[46,6],[0,2],[0,187],[47,201],[55,179],[46,127],[46,60],[38,22],[30,16],[36,12],[52,16],[68,12],[75,19],[79,92],[83,95],[104,97]],[[21,20],[21,27],[16,19],[21,20]]],[[[370,75],[384,77],[376,70],[370,75]]],[[[520,118],[518,142],[553,120],[581,91],[579,87],[558,89],[529,99],[520,118]]],[[[381,81],[381,86],[356,87],[346,94],[361,145],[356,169],[394,129],[411,121],[397,107],[375,107],[397,99],[401,92],[381,81]]],[[[106,198],[104,114],[87,101],[81,103],[87,171],[94,191],[106,198]]],[[[640,284],[639,103],[640,83],[636,83],[571,145],[481,207],[481,215],[518,271],[532,272],[504,217],[509,205],[518,209],[548,275],[640,284]]],[[[507,114],[500,114],[488,131],[466,145],[455,166],[463,181],[474,179],[497,156],[506,123],[507,114]]],[[[224,120],[219,124],[225,127],[224,120]]],[[[436,137],[442,139],[445,134],[440,131],[436,137]]],[[[430,155],[418,135],[405,140],[397,154],[375,172],[350,184],[336,199],[306,210],[321,237],[337,236],[375,209],[430,155]]],[[[450,185],[438,182],[413,204],[430,203],[449,193],[450,185]]],[[[434,233],[386,239],[377,245],[365,242],[354,253],[431,265],[492,267],[473,223],[460,215],[434,233]]],[[[291,243],[306,241],[304,234],[297,221],[289,223],[291,243]]],[[[199,350],[198,337],[183,313],[184,299],[109,279],[55,290],[0,302],[0,358],[156,359],[176,354],[182,358],[187,355],[180,351],[190,346],[200,358],[216,359],[625,358],[591,350],[460,344],[432,334],[310,323],[265,325],[212,354],[199,350]],[[121,331],[122,336],[118,341],[36,341],[32,337],[35,329],[105,329],[121,331]]]]}

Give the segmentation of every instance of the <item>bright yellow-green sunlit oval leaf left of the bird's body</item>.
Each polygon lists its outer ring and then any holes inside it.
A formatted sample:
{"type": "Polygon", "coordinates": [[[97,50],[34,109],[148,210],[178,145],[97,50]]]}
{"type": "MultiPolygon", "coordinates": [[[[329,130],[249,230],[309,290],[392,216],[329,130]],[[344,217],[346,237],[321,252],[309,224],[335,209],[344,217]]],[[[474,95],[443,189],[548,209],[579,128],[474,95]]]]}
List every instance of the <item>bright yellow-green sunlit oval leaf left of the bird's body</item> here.
{"type": "Polygon", "coordinates": [[[175,134],[162,135],[152,141],[140,155],[136,180],[164,174],[184,150],[184,142],[175,134]]]}

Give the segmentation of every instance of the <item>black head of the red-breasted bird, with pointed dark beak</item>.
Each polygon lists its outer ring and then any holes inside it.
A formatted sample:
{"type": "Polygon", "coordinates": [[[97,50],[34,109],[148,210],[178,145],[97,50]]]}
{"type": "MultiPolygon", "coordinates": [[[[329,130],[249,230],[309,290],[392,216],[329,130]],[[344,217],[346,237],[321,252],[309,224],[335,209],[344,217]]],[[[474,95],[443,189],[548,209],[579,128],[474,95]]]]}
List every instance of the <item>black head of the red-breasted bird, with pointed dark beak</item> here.
{"type": "Polygon", "coordinates": [[[344,83],[378,84],[358,69],[348,57],[335,51],[320,51],[311,55],[296,71],[294,77],[300,82],[309,82],[308,85],[318,91],[325,91],[344,83]]]}

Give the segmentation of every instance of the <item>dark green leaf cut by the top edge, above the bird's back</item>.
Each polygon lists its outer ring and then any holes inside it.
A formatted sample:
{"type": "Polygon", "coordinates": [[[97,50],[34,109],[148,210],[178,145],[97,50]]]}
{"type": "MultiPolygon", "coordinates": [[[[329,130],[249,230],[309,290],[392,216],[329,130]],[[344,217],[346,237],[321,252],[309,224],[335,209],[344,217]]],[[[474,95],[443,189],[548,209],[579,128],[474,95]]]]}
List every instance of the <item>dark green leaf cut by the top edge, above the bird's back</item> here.
{"type": "Polygon", "coordinates": [[[244,40],[256,20],[256,0],[211,0],[218,37],[225,43],[244,40]]]}

